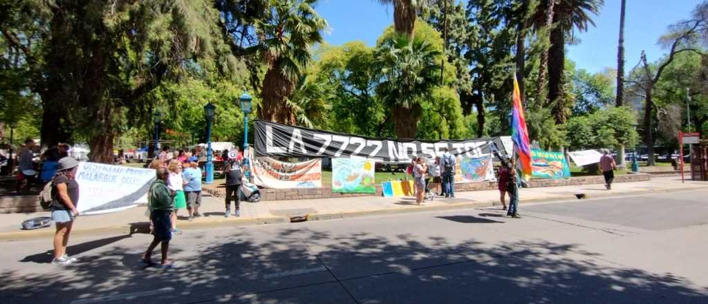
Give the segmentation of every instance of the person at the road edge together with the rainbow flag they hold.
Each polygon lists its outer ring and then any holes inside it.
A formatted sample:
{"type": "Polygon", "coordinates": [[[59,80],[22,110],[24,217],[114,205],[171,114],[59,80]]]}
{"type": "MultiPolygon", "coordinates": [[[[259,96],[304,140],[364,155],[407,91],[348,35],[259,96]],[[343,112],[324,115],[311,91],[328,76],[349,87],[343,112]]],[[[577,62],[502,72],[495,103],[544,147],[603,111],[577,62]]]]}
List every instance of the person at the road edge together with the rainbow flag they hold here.
{"type": "Polygon", "coordinates": [[[531,168],[531,144],[529,141],[529,132],[526,129],[526,119],[524,117],[524,108],[521,104],[521,93],[519,91],[519,83],[516,81],[516,74],[514,74],[514,92],[512,95],[513,106],[511,108],[511,140],[514,142],[514,154],[512,156],[510,163],[511,165],[511,175],[509,178],[508,192],[510,196],[509,201],[509,211],[507,215],[513,218],[519,218],[518,209],[518,184],[517,176],[515,174],[515,168],[520,169],[521,179],[528,180],[532,175],[531,168]],[[518,158],[518,163],[515,162],[514,158],[518,158]],[[512,194],[513,192],[513,194],[512,194]]]}

